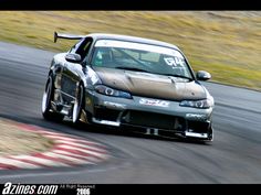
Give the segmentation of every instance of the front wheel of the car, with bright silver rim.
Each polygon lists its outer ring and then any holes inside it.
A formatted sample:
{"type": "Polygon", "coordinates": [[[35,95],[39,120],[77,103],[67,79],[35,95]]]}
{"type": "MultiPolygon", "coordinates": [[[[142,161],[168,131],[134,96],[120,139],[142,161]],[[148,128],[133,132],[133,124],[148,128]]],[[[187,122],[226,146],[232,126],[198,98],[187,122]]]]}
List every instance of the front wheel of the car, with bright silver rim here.
{"type": "Polygon", "coordinates": [[[83,88],[83,85],[80,84],[76,90],[75,102],[73,105],[73,112],[72,112],[72,120],[74,124],[81,123],[80,118],[81,118],[83,102],[84,102],[83,97],[84,97],[84,88],[83,88]]]}

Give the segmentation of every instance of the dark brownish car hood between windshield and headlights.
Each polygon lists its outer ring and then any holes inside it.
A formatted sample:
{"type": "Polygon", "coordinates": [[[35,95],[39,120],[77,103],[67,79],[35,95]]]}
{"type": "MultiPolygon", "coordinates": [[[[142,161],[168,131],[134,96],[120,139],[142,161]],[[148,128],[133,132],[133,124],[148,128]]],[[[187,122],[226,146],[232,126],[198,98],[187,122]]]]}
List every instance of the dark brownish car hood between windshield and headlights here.
{"type": "Polygon", "coordinates": [[[115,89],[129,91],[132,95],[169,99],[203,99],[205,88],[195,80],[169,77],[143,72],[93,67],[102,83],[115,89]]]}

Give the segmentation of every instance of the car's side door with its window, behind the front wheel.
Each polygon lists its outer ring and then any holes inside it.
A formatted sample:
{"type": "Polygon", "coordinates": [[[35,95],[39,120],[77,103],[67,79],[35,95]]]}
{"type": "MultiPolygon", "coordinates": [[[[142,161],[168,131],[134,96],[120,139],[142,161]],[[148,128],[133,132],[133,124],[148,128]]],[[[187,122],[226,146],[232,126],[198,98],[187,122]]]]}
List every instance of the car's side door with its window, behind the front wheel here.
{"type": "MultiPolygon", "coordinates": [[[[85,37],[74,45],[69,53],[79,54],[83,59],[88,52],[92,40],[85,37]]],[[[75,98],[76,84],[81,80],[83,74],[82,63],[71,63],[65,61],[62,69],[61,90],[65,105],[71,105],[75,98]]]]}

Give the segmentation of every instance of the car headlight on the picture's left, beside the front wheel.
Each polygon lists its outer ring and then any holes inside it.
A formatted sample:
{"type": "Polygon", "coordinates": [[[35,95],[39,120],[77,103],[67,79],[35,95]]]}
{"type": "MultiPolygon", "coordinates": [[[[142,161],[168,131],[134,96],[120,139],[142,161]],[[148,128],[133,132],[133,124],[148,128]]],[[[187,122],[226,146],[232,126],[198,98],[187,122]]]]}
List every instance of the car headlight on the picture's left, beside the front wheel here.
{"type": "Polygon", "coordinates": [[[94,88],[98,94],[132,99],[132,95],[129,93],[116,90],[104,85],[96,85],[94,88]]]}

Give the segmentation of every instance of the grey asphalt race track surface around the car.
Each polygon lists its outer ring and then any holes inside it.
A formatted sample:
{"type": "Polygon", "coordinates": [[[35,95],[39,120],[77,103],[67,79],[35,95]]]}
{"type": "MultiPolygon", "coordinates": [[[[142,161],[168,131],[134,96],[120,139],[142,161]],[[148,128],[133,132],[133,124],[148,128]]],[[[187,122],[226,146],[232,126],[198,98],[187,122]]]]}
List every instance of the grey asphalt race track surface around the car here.
{"type": "Polygon", "coordinates": [[[113,156],[95,166],[1,171],[0,183],[261,183],[261,93],[205,83],[216,99],[211,144],[75,128],[41,116],[53,55],[0,43],[0,116],[101,142],[113,156]]]}

